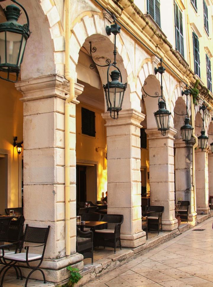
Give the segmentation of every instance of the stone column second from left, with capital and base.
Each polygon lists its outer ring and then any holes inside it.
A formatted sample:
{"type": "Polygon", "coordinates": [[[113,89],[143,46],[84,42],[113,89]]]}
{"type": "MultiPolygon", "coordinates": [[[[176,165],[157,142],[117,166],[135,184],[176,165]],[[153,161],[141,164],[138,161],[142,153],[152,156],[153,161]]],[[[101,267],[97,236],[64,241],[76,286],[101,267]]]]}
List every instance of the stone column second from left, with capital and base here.
{"type": "Polygon", "coordinates": [[[123,214],[123,247],[135,248],[145,243],[141,229],[141,142],[140,128],[144,115],[134,109],[122,110],[117,120],[109,113],[107,135],[107,213],[123,214]]]}

